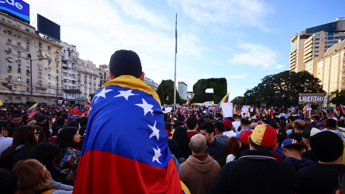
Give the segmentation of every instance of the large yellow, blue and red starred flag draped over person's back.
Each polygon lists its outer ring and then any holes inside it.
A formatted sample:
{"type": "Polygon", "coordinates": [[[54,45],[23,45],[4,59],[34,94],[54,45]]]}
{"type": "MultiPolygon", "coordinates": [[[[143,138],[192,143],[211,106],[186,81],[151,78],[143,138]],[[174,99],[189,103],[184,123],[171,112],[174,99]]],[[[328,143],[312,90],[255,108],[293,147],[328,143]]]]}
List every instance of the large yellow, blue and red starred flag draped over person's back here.
{"type": "Polygon", "coordinates": [[[73,193],[183,193],[157,93],[120,76],[93,97],[73,193]]]}

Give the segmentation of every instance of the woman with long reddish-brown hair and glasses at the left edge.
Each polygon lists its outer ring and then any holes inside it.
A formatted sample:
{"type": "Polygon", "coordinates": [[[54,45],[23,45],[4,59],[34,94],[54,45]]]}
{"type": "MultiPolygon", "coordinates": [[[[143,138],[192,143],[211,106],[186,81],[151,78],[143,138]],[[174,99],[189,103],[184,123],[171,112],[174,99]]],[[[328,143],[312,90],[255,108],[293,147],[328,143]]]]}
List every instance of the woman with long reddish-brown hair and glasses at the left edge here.
{"type": "Polygon", "coordinates": [[[14,133],[12,146],[1,154],[1,167],[12,169],[16,162],[28,159],[32,148],[39,140],[39,133],[34,126],[20,126],[14,133]]]}

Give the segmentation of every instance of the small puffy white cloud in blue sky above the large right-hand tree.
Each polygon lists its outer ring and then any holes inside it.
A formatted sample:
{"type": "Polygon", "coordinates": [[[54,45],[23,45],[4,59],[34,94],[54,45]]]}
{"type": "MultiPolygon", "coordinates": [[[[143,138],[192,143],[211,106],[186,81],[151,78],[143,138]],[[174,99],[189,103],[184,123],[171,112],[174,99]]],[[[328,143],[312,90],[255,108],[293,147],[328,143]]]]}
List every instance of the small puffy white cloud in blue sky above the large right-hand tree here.
{"type": "Polygon", "coordinates": [[[237,47],[243,52],[235,54],[229,60],[234,65],[250,65],[253,67],[261,67],[263,69],[282,69],[284,65],[277,64],[276,51],[270,47],[255,44],[252,42],[239,41],[237,47]]]}

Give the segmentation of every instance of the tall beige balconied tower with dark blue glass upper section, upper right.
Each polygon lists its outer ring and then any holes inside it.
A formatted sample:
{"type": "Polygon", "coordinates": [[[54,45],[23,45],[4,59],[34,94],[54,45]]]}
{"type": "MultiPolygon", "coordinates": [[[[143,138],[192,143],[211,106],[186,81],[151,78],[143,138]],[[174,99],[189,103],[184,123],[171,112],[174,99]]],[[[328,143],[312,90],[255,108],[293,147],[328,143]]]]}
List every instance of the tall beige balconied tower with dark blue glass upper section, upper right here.
{"type": "Polygon", "coordinates": [[[305,29],[291,39],[290,71],[308,71],[317,77],[317,61],[327,48],[345,37],[345,18],[331,23],[305,29]]]}

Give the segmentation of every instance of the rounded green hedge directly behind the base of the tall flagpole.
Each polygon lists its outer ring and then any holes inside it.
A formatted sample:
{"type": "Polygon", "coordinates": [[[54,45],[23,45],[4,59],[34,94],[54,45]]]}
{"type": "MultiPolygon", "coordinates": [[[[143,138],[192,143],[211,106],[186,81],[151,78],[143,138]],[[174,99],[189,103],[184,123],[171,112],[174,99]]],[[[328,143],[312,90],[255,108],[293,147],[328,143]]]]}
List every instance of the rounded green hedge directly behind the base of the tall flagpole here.
{"type": "MultiPolygon", "coordinates": [[[[175,88],[176,89],[176,88],[175,88]]],[[[171,79],[162,80],[157,88],[157,94],[161,104],[174,104],[174,81],[171,79]]],[[[183,104],[176,90],[176,104],[183,104]]]]}

